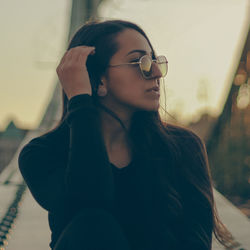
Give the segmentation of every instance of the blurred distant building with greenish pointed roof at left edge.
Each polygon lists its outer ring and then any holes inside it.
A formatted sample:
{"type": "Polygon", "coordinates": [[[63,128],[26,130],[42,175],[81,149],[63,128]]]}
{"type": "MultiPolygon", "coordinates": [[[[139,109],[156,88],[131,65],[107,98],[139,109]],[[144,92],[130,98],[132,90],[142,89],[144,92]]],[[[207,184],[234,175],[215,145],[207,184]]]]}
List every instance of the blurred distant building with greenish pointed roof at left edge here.
{"type": "Polygon", "coordinates": [[[18,128],[14,121],[0,132],[0,173],[9,164],[27,132],[27,129],[18,128]]]}

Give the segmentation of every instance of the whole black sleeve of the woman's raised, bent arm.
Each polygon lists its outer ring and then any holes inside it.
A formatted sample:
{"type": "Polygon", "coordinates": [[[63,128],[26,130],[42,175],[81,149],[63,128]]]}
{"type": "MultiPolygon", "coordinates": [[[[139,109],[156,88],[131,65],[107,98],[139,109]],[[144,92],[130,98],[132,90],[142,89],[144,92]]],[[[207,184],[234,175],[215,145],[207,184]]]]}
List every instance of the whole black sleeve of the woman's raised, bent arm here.
{"type": "MultiPolygon", "coordinates": [[[[100,131],[98,110],[88,94],[68,102],[69,127],[67,162],[56,150],[56,142],[34,138],[18,157],[19,169],[36,201],[55,211],[70,204],[81,207],[113,206],[112,169],[100,131]]],[[[60,145],[58,145],[60,147],[60,145]]]]}

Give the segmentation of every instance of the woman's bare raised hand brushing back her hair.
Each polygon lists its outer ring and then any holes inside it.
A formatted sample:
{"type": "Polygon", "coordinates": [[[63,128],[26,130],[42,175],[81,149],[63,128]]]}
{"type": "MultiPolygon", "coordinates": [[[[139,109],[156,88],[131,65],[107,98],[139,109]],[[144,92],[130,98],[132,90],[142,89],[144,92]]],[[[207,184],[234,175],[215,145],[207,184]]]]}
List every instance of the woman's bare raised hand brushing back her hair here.
{"type": "Polygon", "coordinates": [[[77,46],[66,51],[56,72],[68,99],[75,95],[92,95],[87,57],[95,53],[95,47],[77,46]]]}

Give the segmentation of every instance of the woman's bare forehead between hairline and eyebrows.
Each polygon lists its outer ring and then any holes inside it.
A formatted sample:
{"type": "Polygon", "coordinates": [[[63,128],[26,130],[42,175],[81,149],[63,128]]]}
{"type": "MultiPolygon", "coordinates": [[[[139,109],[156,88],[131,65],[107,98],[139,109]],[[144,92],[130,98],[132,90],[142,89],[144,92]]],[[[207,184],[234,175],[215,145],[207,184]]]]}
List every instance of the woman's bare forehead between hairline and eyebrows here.
{"type": "Polygon", "coordinates": [[[152,51],[147,39],[134,29],[122,31],[115,40],[118,44],[118,51],[114,57],[124,57],[132,50],[145,50],[148,54],[152,51]]]}

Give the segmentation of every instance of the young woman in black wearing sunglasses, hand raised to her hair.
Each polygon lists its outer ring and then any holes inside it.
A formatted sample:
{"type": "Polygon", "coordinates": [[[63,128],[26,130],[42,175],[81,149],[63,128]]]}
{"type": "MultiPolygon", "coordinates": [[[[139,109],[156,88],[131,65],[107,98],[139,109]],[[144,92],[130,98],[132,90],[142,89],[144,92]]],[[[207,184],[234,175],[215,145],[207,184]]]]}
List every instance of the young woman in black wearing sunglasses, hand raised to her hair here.
{"type": "Polygon", "coordinates": [[[33,138],[20,171],[48,211],[54,250],[226,245],[203,141],[159,115],[168,61],[137,25],[89,22],[56,71],[59,124],[33,138]]]}

